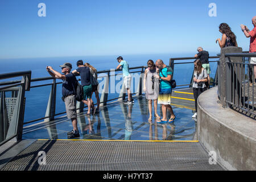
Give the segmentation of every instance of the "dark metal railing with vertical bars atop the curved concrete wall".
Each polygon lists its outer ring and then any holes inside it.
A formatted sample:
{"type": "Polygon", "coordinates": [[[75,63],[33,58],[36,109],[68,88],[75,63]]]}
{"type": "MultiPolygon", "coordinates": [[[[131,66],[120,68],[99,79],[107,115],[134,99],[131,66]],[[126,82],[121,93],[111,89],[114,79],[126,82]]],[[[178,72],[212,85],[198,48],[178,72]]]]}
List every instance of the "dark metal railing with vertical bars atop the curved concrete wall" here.
{"type": "Polygon", "coordinates": [[[254,98],[254,71],[249,62],[256,53],[238,52],[241,48],[223,48],[218,64],[221,73],[218,84],[218,97],[222,107],[235,108],[243,114],[256,115],[254,98]],[[230,53],[232,51],[233,53],[230,53]],[[250,81],[252,84],[250,84],[250,81]]]}

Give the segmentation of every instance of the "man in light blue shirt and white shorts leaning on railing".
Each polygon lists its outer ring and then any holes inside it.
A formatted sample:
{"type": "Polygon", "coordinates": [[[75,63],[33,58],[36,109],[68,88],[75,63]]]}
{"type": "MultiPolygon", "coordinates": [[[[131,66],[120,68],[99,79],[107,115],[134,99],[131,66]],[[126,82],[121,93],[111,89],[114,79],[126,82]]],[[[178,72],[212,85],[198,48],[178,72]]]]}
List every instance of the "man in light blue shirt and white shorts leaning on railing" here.
{"type": "Polygon", "coordinates": [[[127,104],[133,104],[133,98],[131,96],[131,75],[129,72],[129,64],[127,61],[123,60],[123,57],[117,57],[117,61],[119,65],[117,69],[122,68],[123,71],[123,84],[125,84],[125,88],[127,89],[128,101],[127,104]]]}

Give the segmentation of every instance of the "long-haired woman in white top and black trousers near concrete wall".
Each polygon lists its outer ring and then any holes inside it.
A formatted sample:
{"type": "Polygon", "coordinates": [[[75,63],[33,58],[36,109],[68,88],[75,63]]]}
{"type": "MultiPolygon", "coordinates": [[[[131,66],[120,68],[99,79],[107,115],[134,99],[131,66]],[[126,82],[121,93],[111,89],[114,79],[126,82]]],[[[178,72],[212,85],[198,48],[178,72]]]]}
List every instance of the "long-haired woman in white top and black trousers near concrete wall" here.
{"type": "Polygon", "coordinates": [[[200,59],[197,59],[194,61],[194,77],[193,77],[193,93],[195,97],[195,106],[196,106],[196,113],[192,116],[192,118],[195,118],[197,116],[197,98],[201,93],[203,93],[207,86],[205,85],[205,82],[208,81],[207,77],[207,71],[202,67],[200,59]]]}

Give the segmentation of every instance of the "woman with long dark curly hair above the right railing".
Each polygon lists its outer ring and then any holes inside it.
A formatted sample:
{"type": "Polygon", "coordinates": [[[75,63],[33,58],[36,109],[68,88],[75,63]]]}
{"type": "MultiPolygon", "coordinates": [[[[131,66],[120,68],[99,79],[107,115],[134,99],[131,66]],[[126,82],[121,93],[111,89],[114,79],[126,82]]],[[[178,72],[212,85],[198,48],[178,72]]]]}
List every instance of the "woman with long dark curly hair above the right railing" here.
{"type": "Polygon", "coordinates": [[[237,38],[236,35],[231,31],[231,28],[226,23],[221,23],[219,31],[222,34],[221,39],[217,39],[216,43],[218,42],[218,45],[220,48],[228,47],[228,46],[236,46],[237,47],[237,38]]]}

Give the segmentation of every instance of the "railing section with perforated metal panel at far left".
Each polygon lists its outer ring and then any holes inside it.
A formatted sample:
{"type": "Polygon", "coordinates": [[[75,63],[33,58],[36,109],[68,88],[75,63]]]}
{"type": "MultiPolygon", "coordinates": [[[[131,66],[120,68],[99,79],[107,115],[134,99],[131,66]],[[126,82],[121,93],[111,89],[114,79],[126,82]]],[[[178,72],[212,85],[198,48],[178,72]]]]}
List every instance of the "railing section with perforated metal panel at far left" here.
{"type": "Polygon", "coordinates": [[[16,137],[22,139],[25,91],[30,90],[31,71],[5,73],[0,80],[22,77],[20,81],[5,81],[0,87],[0,146],[16,137]]]}

